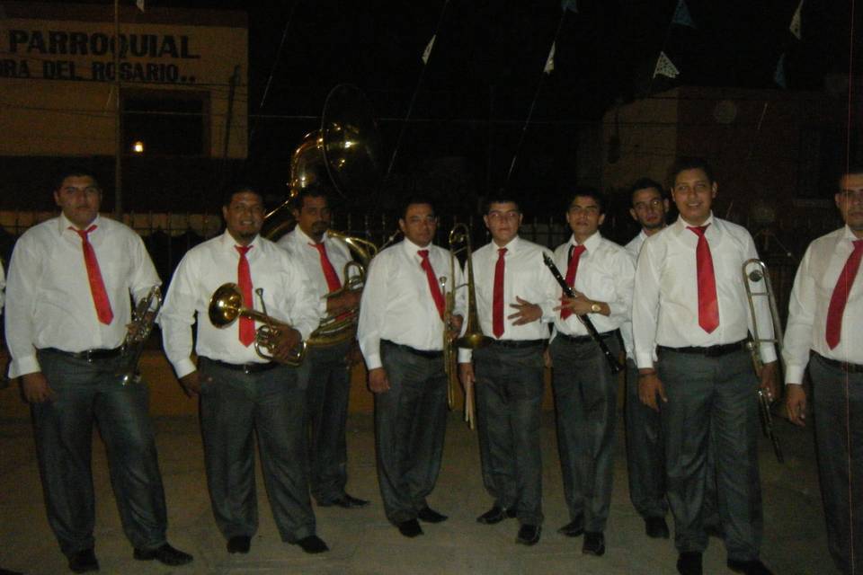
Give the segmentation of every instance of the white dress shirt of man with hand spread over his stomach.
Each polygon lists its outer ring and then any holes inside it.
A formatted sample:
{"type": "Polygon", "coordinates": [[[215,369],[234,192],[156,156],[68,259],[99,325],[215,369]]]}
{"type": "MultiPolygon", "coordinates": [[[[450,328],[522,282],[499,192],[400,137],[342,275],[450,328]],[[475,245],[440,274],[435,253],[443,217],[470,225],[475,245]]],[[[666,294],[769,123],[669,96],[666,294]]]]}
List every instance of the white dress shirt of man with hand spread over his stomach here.
{"type": "MultiPolygon", "coordinates": [[[[556,305],[560,304],[562,290],[551,271],[542,261],[543,254],[553,256],[550,250],[518,236],[505,246],[503,256],[503,335],[501,340],[547,340],[548,325],[554,322],[556,305]],[[516,297],[539,305],[542,317],[537,322],[513,325],[508,315],[516,312],[512,304],[516,297]]],[[[473,254],[474,282],[476,286],[476,313],[479,327],[483,333],[494,338],[492,329],[492,304],[494,300],[494,268],[497,265],[498,250],[494,243],[486,243],[473,254]]],[[[565,273],[562,272],[562,273],[565,273]]],[[[470,349],[458,349],[458,362],[471,360],[470,349]]]]}

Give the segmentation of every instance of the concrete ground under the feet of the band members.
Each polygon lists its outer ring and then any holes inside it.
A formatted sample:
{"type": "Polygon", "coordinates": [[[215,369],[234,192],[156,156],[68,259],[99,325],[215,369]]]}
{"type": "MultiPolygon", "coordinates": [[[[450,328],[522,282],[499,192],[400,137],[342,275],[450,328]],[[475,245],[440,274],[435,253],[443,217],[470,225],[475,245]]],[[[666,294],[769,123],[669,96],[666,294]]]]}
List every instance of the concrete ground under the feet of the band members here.
{"type": "MultiPolygon", "coordinates": [[[[0,394],[16,393],[15,387],[0,394]]],[[[476,432],[455,413],[449,420],[443,467],[432,508],[449,515],[439,525],[423,525],[425,535],[406,539],[384,517],[375,476],[372,420],[352,413],[349,420],[349,491],[372,500],[365,509],[317,509],[318,534],[332,551],[307,555],[282,544],[272,522],[258,473],[261,526],[247,555],[228,555],[210,513],[198,422],[194,417],[157,418],[157,442],[170,516],[169,540],[192,553],[189,566],[169,568],[136,562],[120,528],[111,494],[104,449],[93,440],[93,477],[97,493],[96,554],[102,573],[673,573],[671,541],[644,535],[644,524],[628,499],[622,421],[618,422],[615,487],[608,530],[608,551],[601,558],[581,553],[582,539],[568,539],[556,528],[568,521],[556,454],[554,420],[547,412],[543,434],[545,530],[539,544],[514,543],[518,525],[476,523],[489,508],[479,473],[476,432]]],[[[777,422],[786,452],[778,464],[768,442],[761,442],[764,493],[764,543],[761,557],[776,573],[832,573],[815,474],[812,435],[784,420],[777,422]]],[[[669,518],[671,521],[671,518],[669,518]]],[[[711,539],[704,557],[706,573],[729,572],[722,543],[711,539]]],[[[30,574],[67,571],[45,518],[30,424],[0,420],[0,567],[30,574]]]]}

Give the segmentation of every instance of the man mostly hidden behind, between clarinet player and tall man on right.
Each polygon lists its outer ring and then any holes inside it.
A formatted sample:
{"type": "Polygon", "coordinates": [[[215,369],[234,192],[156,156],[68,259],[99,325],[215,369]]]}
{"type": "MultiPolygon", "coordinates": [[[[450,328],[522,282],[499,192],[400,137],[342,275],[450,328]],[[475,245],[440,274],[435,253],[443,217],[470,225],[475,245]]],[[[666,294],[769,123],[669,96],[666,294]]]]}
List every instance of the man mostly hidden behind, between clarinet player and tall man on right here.
{"type": "MultiPolygon", "coordinates": [[[[665,228],[668,199],[663,198],[663,186],[650,178],[641,178],[630,187],[632,216],[641,231],[627,243],[627,252],[633,261],[638,260],[641,246],[649,236],[665,228]]],[[[638,398],[638,367],[632,342],[632,322],[620,327],[627,348],[627,398],[624,413],[627,426],[627,469],[629,471],[629,499],[638,514],[645,519],[645,533],[649,537],[668,539],[665,523],[668,503],[665,500],[665,458],[663,456],[662,426],[659,413],[647,407],[638,398]]]]}

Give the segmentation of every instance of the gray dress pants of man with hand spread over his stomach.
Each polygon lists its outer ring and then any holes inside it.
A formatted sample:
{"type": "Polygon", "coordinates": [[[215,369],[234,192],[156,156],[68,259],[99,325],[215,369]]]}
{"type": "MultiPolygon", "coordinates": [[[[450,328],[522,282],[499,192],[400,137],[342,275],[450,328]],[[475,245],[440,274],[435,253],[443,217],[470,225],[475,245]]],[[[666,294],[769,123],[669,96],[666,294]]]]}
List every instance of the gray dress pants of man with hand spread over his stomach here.
{"type": "Polygon", "coordinates": [[[476,418],[485,489],[515,509],[522,525],[542,524],[542,346],[475,349],[476,418]]]}

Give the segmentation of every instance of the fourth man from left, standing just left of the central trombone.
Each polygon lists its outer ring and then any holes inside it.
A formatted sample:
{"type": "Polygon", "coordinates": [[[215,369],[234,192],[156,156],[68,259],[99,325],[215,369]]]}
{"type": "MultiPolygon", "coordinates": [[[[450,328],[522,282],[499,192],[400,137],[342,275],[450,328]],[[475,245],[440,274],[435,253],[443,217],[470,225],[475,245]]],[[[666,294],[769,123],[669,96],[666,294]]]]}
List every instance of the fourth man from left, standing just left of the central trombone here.
{"type": "MultiPolygon", "coordinates": [[[[375,394],[380,495],[387,519],[405,537],[423,534],[417,519],[447,518],[426,500],[440,472],[447,423],[440,279],[449,287],[463,281],[458,266],[450,277],[449,252],[432,244],[437,224],[429,199],[405,201],[398,220],[405,239],[371,262],[357,332],[375,394]]],[[[459,332],[463,293],[453,314],[452,331],[459,332]]]]}

